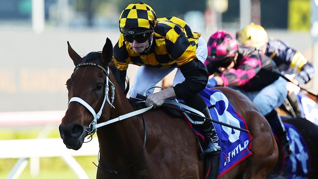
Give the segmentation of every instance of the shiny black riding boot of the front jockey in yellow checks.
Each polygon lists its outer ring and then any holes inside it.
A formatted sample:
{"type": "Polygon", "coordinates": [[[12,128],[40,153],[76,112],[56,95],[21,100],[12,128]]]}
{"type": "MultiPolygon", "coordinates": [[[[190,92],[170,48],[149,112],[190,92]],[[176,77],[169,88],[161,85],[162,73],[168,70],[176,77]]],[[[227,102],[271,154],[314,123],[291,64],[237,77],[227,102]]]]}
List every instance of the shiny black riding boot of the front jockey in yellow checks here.
{"type": "MultiPolygon", "coordinates": [[[[206,107],[204,111],[205,117],[208,117],[211,119],[210,112],[208,108],[206,107]]],[[[204,123],[201,126],[201,131],[204,134],[205,138],[205,146],[204,146],[204,154],[205,155],[216,155],[221,152],[221,147],[219,146],[219,137],[216,134],[216,131],[214,129],[214,125],[210,120],[205,120],[204,123]]]]}

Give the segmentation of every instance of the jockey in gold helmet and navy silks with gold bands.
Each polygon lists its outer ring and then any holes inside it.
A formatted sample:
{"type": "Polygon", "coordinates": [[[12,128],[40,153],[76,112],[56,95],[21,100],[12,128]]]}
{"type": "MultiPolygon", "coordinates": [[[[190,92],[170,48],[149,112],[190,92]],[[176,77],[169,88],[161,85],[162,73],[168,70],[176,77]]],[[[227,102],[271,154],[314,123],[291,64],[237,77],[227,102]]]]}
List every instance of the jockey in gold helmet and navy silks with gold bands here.
{"type": "Polygon", "coordinates": [[[300,116],[296,94],[299,87],[308,83],[315,73],[315,67],[297,50],[281,40],[268,39],[267,32],[261,25],[251,23],[236,34],[238,42],[244,46],[253,46],[273,59],[282,74],[292,82],[287,83],[288,99],[300,116]]]}

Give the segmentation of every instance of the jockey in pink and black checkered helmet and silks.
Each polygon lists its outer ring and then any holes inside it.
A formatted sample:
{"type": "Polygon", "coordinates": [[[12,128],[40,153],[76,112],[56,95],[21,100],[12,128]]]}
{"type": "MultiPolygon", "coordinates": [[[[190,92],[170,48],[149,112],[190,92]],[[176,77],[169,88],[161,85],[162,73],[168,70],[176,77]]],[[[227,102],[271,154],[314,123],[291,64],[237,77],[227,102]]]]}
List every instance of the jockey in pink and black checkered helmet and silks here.
{"type": "Polygon", "coordinates": [[[229,86],[248,96],[268,120],[288,155],[289,138],[275,111],[287,95],[287,81],[272,72],[278,71],[273,60],[253,47],[239,46],[234,36],[225,30],[214,33],[207,48],[204,65],[211,75],[207,87],[229,86]]]}

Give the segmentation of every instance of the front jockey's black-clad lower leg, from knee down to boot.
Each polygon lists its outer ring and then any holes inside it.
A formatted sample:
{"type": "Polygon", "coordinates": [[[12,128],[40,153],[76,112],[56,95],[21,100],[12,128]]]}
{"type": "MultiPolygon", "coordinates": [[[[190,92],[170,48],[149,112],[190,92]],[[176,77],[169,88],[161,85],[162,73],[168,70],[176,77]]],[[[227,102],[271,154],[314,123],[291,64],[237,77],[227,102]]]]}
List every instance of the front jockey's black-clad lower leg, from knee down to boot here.
{"type": "MultiPolygon", "coordinates": [[[[192,95],[186,99],[183,99],[185,103],[202,113],[205,117],[211,119],[210,112],[207,106],[204,103],[204,100],[199,94],[192,95]]],[[[195,117],[196,120],[203,121],[200,117],[195,117]]],[[[204,134],[205,145],[204,145],[204,154],[215,155],[221,152],[221,147],[219,146],[219,138],[214,129],[214,125],[210,120],[205,120],[203,124],[198,124],[194,126],[197,130],[204,134]]]]}

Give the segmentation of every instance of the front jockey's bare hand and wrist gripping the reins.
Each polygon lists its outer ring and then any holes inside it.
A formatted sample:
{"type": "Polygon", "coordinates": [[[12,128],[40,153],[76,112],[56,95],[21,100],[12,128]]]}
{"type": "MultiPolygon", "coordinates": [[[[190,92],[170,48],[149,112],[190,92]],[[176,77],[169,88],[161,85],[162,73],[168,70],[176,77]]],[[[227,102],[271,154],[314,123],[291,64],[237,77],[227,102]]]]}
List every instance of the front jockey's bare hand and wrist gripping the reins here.
{"type": "Polygon", "coordinates": [[[173,88],[168,88],[149,95],[145,101],[145,104],[147,107],[153,105],[153,108],[157,108],[164,103],[165,99],[173,97],[176,97],[175,91],[173,90],[173,88]]]}

